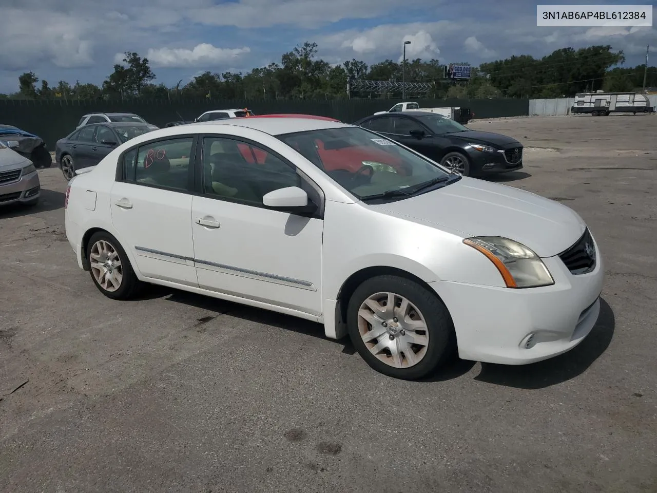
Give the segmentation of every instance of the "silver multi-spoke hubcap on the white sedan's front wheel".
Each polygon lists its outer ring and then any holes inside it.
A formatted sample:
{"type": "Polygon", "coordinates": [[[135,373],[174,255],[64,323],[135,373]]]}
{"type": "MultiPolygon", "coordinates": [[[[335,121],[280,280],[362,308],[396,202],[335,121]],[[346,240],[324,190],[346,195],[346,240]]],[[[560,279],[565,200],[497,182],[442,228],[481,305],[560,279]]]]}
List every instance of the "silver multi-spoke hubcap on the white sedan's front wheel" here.
{"type": "Polygon", "coordinates": [[[358,330],[376,358],[395,368],[417,365],[426,355],[429,333],[420,310],[394,293],[376,293],[358,310],[358,330]]]}

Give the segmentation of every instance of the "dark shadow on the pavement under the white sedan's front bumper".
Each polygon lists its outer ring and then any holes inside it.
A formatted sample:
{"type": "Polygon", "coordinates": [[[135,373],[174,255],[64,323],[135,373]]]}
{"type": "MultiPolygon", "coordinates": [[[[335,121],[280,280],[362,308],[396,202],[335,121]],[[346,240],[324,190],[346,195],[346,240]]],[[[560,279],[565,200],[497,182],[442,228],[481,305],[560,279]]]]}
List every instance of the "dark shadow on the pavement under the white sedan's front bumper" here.
{"type": "Polygon", "coordinates": [[[475,380],[504,387],[535,390],[551,387],[578,377],[606,351],[614,337],[616,317],[600,298],[600,316],[591,333],[572,350],[542,362],[523,365],[482,364],[475,380]]]}

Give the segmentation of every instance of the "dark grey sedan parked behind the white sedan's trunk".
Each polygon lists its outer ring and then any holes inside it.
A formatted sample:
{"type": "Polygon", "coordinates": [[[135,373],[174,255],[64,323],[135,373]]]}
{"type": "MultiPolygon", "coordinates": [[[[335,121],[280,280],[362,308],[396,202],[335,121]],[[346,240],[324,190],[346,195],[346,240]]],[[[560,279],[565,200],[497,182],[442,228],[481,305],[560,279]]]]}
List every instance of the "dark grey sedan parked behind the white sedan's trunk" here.
{"type": "Polygon", "coordinates": [[[96,166],[115,147],[137,135],[158,129],[136,122],[109,122],[76,129],[55,145],[55,160],[64,178],[71,179],[76,170],[96,166]]]}

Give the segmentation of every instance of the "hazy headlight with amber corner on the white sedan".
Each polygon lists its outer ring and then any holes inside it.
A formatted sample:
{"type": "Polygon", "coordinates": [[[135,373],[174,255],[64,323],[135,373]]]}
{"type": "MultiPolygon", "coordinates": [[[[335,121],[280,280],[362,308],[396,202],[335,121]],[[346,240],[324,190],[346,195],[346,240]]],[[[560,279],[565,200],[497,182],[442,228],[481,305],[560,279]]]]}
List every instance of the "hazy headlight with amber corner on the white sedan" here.
{"type": "Polygon", "coordinates": [[[486,255],[501,273],[507,287],[527,288],[555,283],[543,260],[517,241],[497,236],[466,238],[463,243],[486,255]]]}

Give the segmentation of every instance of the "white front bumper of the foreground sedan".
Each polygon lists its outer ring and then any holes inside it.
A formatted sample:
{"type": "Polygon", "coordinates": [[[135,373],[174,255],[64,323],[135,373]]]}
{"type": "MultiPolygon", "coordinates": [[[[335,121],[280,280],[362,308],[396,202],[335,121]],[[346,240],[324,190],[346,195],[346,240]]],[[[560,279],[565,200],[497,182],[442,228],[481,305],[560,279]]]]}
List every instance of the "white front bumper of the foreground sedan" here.
{"type": "MultiPolygon", "coordinates": [[[[597,245],[595,246],[597,250],[597,245]]],[[[454,322],[464,360],[524,365],[577,346],[600,314],[604,265],[573,275],[558,256],[544,258],[555,284],[509,289],[447,281],[431,283],[454,322]],[[532,336],[528,344],[530,336],[532,336]]]]}

